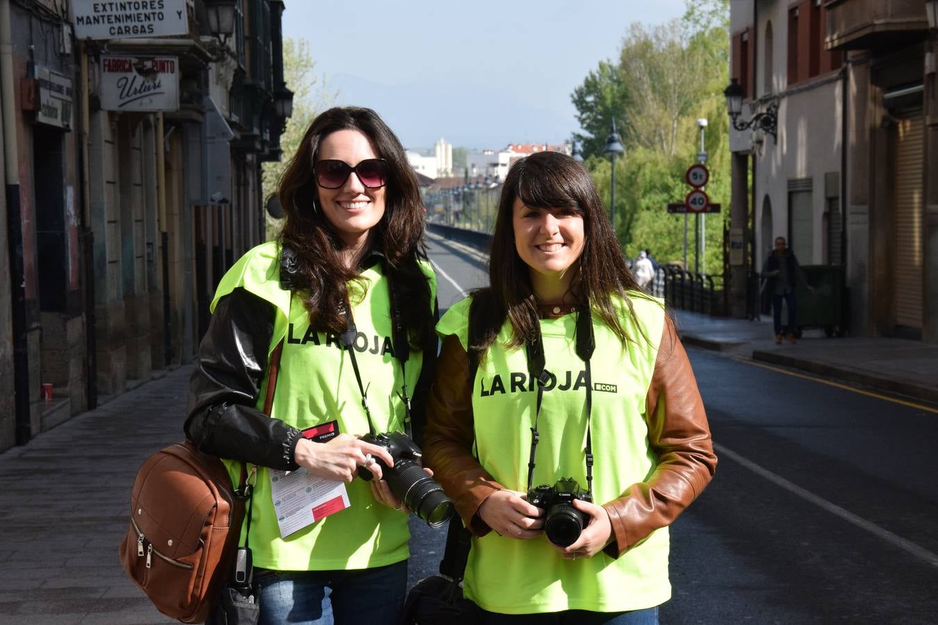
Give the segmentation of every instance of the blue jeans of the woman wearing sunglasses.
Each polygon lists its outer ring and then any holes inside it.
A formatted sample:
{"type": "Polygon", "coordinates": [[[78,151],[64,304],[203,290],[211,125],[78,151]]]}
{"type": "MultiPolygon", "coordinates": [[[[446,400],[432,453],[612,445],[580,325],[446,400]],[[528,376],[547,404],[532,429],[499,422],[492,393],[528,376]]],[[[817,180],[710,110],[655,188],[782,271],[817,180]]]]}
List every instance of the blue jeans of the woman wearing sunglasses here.
{"type": "Polygon", "coordinates": [[[351,571],[268,571],[254,580],[260,625],[384,625],[397,620],[407,593],[407,560],[351,571]]]}

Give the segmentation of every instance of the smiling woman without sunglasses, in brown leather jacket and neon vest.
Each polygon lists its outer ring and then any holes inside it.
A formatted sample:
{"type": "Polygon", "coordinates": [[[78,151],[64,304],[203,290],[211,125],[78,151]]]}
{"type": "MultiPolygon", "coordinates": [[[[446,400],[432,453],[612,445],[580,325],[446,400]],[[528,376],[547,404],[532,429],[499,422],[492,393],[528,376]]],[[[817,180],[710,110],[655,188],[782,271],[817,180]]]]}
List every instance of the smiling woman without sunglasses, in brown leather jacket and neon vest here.
{"type": "Polygon", "coordinates": [[[424,443],[473,534],[464,593],[488,623],[657,623],[667,526],[717,464],[673,323],[559,153],[508,171],[489,276],[437,324],[424,443]]]}

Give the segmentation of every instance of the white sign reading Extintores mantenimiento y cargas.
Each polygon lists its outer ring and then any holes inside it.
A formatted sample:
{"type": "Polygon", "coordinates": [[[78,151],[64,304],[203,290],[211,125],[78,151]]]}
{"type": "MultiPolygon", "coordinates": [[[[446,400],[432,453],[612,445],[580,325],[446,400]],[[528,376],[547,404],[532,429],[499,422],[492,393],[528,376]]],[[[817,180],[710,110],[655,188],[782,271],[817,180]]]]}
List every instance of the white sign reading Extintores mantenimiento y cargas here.
{"type": "Polygon", "coordinates": [[[186,35],[186,0],[71,0],[75,37],[115,39],[186,35]]]}

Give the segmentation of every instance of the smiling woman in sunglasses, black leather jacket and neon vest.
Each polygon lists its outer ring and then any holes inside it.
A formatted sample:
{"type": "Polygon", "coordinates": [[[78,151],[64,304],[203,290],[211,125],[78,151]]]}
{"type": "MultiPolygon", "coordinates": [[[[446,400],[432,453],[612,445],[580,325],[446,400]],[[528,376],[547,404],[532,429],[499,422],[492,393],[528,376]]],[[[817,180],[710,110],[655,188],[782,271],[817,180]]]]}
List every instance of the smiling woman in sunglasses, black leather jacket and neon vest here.
{"type": "Polygon", "coordinates": [[[391,455],[360,437],[409,431],[411,415],[422,429],[436,283],[416,175],[375,112],[334,108],[303,137],[280,203],[279,240],[219,284],[186,433],[235,481],[241,463],[259,469],[241,542],[250,527],[262,623],[387,622],[406,592],[408,511],[381,480],[391,455]],[[363,469],[377,479],[354,479],[363,469]]]}

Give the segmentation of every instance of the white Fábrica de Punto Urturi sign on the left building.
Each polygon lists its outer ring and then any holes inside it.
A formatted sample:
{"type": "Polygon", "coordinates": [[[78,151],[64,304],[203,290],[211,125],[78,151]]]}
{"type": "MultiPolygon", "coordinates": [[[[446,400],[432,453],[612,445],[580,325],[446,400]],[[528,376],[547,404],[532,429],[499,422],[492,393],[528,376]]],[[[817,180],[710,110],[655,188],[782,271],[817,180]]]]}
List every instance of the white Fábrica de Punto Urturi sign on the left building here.
{"type": "Polygon", "coordinates": [[[175,56],[101,55],[103,111],[178,111],[179,62],[175,56]]]}

